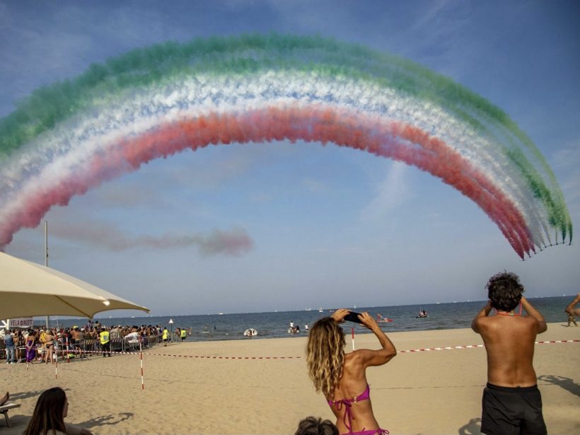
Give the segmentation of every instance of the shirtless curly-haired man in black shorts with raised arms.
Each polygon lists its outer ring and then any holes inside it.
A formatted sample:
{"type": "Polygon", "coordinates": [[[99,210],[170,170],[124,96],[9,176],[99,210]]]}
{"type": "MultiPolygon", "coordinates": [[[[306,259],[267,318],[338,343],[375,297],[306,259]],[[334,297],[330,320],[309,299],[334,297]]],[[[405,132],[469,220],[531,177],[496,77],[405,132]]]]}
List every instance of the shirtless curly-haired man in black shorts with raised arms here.
{"type": "Polygon", "coordinates": [[[516,274],[501,272],[486,286],[489,301],[471,323],[487,352],[482,434],[547,434],[533,368],[535,337],[547,330],[542,315],[521,294],[516,274]],[[514,310],[521,303],[527,315],[514,310]],[[494,309],[497,315],[489,316],[494,309]]]}

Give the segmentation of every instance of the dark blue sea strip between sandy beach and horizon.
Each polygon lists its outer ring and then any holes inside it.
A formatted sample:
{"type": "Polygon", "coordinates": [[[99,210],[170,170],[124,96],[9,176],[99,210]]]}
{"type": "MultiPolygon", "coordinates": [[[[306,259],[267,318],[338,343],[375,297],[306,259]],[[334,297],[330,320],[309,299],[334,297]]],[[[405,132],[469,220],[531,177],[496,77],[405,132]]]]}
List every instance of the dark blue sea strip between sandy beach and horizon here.
{"type": "MultiPolygon", "coordinates": [[[[574,296],[554,296],[544,298],[529,298],[530,303],[542,313],[546,322],[566,322],[564,308],[574,299],[574,296]]],[[[385,332],[444,330],[470,327],[471,321],[478,311],[485,306],[485,301],[465,301],[451,303],[425,303],[422,305],[353,307],[352,311],[368,311],[376,318],[378,314],[393,321],[379,323],[385,332]],[[418,318],[419,310],[427,311],[429,317],[418,318]]],[[[109,325],[161,325],[173,330],[176,327],[191,328],[192,335],[187,341],[204,342],[219,340],[248,340],[243,332],[248,328],[257,330],[257,336],[252,340],[266,338],[288,338],[305,336],[306,325],[313,325],[319,318],[331,315],[335,308],[315,308],[302,311],[277,311],[265,313],[219,313],[202,315],[175,315],[130,318],[96,318],[101,324],[109,325]],[[173,320],[173,323],[170,323],[173,320]],[[289,333],[289,325],[300,327],[301,332],[289,333]]],[[[38,320],[37,322],[38,323],[38,320]]],[[[52,327],[81,327],[87,319],[50,318],[52,327]]],[[[343,326],[354,327],[355,333],[369,332],[356,323],[345,323],[343,326]]]]}

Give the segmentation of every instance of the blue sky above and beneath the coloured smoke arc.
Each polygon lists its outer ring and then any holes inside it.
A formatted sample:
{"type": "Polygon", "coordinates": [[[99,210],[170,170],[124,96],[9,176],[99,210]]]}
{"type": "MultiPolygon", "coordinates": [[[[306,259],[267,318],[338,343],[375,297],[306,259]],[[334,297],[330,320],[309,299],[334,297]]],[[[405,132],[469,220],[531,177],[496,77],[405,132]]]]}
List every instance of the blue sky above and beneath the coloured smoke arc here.
{"type": "MultiPolygon", "coordinates": [[[[580,6],[574,1],[0,2],[0,117],[35,88],[166,40],[336,37],[400,54],[505,110],[543,153],[580,228],[580,6]]],[[[152,314],[485,298],[508,269],[528,296],[576,294],[578,244],[522,262],[497,226],[416,168],[320,144],[209,147],[54,207],[50,265],[152,314]],[[111,240],[237,231],[240,255],[111,240]]],[[[42,263],[42,226],[6,252],[42,263]]],[[[120,315],[122,313],[110,313],[120,315]]]]}

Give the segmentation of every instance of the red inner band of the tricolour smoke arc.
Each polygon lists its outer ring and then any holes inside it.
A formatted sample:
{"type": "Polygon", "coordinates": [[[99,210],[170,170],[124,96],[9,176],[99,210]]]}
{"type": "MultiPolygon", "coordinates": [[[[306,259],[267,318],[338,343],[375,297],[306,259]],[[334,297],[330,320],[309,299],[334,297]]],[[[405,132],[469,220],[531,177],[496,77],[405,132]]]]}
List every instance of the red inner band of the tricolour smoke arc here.
{"type": "Polygon", "coordinates": [[[0,247],[10,243],[18,229],[37,226],[52,205],[66,205],[74,195],[137,170],[154,158],[165,158],[186,148],[195,151],[209,144],[283,139],[349,146],[417,166],[478,204],[520,257],[534,250],[526,221],[515,204],[443,141],[408,124],[318,105],[286,105],[239,115],[211,113],[162,124],[138,137],[128,137],[96,153],[90,164],[83,165],[76,174],[57,185],[41,187],[25,198],[24,207],[1,225],[0,247]]]}

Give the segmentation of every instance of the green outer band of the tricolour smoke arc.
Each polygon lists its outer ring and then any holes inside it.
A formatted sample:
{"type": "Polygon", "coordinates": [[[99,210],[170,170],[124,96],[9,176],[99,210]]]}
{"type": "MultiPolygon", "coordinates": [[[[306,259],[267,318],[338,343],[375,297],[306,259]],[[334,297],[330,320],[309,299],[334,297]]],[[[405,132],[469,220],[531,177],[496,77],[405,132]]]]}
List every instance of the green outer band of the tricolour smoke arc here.
{"type": "Polygon", "coordinates": [[[198,38],[185,44],[165,42],[92,64],[74,79],[33,91],[0,120],[0,164],[21,146],[54,129],[91,105],[103,105],[131,88],[170,83],[180,76],[256,74],[279,70],[343,76],[390,88],[434,103],[488,137],[521,172],[547,210],[562,240],[572,240],[572,219],[550,166],[501,108],[409,59],[361,45],[301,35],[241,35],[198,38]],[[524,153],[525,150],[526,152],[524,153]]]}

